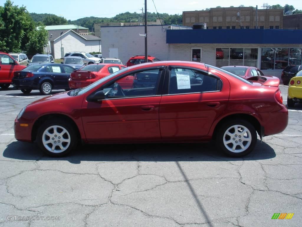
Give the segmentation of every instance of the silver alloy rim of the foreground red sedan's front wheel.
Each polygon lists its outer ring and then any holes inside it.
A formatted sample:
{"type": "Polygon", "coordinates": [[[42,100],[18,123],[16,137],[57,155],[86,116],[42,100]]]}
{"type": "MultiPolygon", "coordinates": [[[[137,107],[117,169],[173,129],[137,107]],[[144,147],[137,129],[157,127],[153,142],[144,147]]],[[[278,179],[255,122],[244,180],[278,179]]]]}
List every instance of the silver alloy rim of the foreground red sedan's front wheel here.
{"type": "Polygon", "coordinates": [[[69,132],[59,125],[50,126],[43,132],[42,143],[51,153],[62,153],[70,145],[69,132]]]}

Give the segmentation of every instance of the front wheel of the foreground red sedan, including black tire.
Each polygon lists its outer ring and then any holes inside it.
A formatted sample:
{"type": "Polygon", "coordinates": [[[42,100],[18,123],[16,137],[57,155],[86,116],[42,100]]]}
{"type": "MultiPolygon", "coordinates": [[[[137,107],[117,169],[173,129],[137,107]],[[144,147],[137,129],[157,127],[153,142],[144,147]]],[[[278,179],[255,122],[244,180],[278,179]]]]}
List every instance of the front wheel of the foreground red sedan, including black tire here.
{"type": "Polygon", "coordinates": [[[76,134],[76,130],[67,122],[63,120],[49,120],[43,123],[37,132],[37,143],[41,150],[49,156],[52,157],[62,157],[74,150],[77,146],[78,138],[76,134]],[[53,128],[56,127],[56,132],[53,128]],[[63,133],[63,129],[66,130],[67,133],[63,133]],[[50,137],[44,133],[48,132],[50,137]],[[60,134],[63,133],[63,134],[60,134]],[[43,139],[49,140],[49,143],[43,144],[43,139]],[[62,140],[69,140],[69,142],[65,142],[62,140]],[[57,144],[57,145],[56,145],[57,144]],[[54,146],[54,151],[52,148],[54,146]]]}

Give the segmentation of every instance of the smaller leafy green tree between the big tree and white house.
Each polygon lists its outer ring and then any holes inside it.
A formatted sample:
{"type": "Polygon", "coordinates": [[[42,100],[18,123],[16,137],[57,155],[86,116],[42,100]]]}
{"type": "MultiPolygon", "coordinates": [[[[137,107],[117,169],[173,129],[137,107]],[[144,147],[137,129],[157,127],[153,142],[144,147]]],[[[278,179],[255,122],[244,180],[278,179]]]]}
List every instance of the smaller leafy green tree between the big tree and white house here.
{"type": "Polygon", "coordinates": [[[26,44],[27,54],[34,55],[43,53],[48,42],[48,31],[45,26],[39,26],[29,35],[29,42],[26,44]]]}

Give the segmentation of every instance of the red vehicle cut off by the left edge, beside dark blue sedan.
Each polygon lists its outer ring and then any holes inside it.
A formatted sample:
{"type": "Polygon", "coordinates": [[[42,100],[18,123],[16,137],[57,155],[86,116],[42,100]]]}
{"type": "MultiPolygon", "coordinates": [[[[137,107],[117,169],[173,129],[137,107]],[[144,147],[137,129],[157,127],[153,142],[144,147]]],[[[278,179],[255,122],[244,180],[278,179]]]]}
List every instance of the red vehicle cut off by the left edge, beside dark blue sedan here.
{"type": "Polygon", "coordinates": [[[11,55],[0,52],[0,87],[3,89],[8,88],[11,85],[14,72],[24,68],[26,66],[20,65],[11,55]]]}

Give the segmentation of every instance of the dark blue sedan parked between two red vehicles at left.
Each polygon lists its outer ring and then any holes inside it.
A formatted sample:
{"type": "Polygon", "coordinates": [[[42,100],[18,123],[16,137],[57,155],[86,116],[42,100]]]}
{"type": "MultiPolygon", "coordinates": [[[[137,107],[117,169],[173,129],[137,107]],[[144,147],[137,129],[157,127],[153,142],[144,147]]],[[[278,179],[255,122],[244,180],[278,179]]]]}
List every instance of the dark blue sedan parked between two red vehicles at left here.
{"type": "Polygon", "coordinates": [[[70,90],[68,80],[74,68],[65,64],[40,63],[15,71],[12,85],[25,94],[32,90],[40,90],[48,95],[54,89],[70,90]]]}

